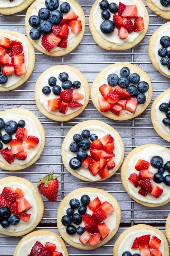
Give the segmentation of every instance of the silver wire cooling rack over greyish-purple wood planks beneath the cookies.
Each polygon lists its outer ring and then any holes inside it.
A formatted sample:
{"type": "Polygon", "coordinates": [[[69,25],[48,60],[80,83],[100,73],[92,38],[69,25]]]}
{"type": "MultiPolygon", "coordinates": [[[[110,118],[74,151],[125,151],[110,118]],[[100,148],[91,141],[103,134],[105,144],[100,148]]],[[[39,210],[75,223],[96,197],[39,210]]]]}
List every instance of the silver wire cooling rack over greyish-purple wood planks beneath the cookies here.
{"type": "MultiPolygon", "coordinates": [[[[65,169],[61,160],[61,145],[65,135],[69,129],[77,123],[85,120],[96,119],[108,123],[119,132],[124,141],[125,156],[127,156],[127,154],[138,145],[156,143],[170,148],[170,144],[161,139],[155,133],[152,127],[150,118],[151,104],[140,116],[132,120],[118,122],[103,117],[103,115],[101,115],[95,109],[90,99],[88,106],[79,117],[65,123],[55,122],[44,117],[38,111],[34,101],[34,86],[39,75],[53,65],[69,64],[78,68],[82,73],[84,73],[91,87],[94,78],[104,67],[116,62],[129,62],[139,66],[146,71],[148,75],[150,75],[154,89],[153,98],[151,101],[152,103],[157,95],[169,88],[170,81],[168,78],[165,78],[160,73],[155,71],[154,67],[152,66],[148,57],[148,41],[152,33],[167,21],[152,13],[147,8],[150,16],[150,25],[142,42],[134,48],[125,50],[123,52],[106,51],[95,44],[89,31],[89,13],[94,0],[78,0],[78,2],[81,4],[86,16],[86,31],[80,45],[77,46],[72,53],[65,55],[64,57],[51,57],[39,53],[35,49],[36,64],[28,81],[22,86],[18,87],[16,90],[1,92],[0,94],[0,111],[15,107],[27,108],[36,114],[46,133],[46,144],[44,151],[34,165],[18,172],[1,170],[0,178],[10,175],[20,176],[32,181],[32,183],[36,186],[37,177],[44,176],[49,171],[54,170],[55,174],[59,176],[58,180],[60,185],[57,202],[51,203],[43,198],[44,216],[36,230],[48,229],[56,233],[58,233],[56,223],[58,204],[61,202],[61,199],[73,189],[80,187],[97,187],[112,194],[115,198],[117,198],[122,210],[121,224],[118,232],[115,234],[115,237],[104,246],[90,252],[78,250],[66,244],[69,251],[69,256],[112,256],[114,242],[129,226],[138,223],[145,223],[160,228],[162,232],[165,233],[165,221],[170,212],[169,204],[157,208],[148,208],[134,202],[123,189],[120,170],[118,170],[116,174],[106,181],[88,183],[76,179],[65,169]]],[[[145,3],[145,1],[143,2],[145,3]]],[[[0,29],[18,31],[26,35],[24,27],[25,13],[26,10],[24,10],[22,13],[11,16],[0,15],[0,29]]],[[[21,238],[22,237],[9,237],[0,234],[0,256],[13,255],[15,246],[18,244],[21,238]]]]}

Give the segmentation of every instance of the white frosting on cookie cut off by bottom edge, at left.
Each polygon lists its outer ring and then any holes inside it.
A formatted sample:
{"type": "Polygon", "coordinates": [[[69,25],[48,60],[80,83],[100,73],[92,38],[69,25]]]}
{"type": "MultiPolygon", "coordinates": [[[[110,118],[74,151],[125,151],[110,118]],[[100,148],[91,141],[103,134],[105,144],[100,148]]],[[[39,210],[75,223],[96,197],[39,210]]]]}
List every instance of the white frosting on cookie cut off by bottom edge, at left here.
{"type": "Polygon", "coordinates": [[[39,237],[33,237],[27,241],[24,241],[18,248],[18,251],[16,253],[16,256],[27,256],[29,255],[33,245],[36,242],[40,242],[42,243],[43,246],[46,245],[47,242],[49,243],[53,243],[56,245],[56,251],[57,252],[61,252],[63,256],[65,256],[64,251],[62,250],[62,246],[61,244],[58,242],[57,238],[53,235],[45,235],[45,231],[44,231],[44,235],[41,235],[39,237]]]}

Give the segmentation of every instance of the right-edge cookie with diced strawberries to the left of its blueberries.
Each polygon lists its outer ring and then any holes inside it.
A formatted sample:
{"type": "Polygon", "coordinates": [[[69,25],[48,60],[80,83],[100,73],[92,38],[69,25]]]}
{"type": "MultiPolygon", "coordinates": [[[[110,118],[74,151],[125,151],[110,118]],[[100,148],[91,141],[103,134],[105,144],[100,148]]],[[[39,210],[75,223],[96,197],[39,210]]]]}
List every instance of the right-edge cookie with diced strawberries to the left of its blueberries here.
{"type": "Polygon", "coordinates": [[[133,149],[125,158],[121,179],[129,196],[155,207],[170,201],[170,150],[156,144],[133,149]]]}

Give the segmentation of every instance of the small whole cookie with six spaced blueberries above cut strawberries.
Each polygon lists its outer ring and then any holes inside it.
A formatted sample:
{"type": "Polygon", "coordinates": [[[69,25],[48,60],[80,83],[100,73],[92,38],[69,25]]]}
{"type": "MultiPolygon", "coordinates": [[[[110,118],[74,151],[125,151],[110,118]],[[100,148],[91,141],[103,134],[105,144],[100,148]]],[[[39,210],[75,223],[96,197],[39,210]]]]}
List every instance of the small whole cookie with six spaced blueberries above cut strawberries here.
{"type": "Polygon", "coordinates": [[[48,68],[35,87],[36,104],[44,116],[68,121],[78,116],[89,102],[90,89],[82,73],[68,65],[48,68]]]}

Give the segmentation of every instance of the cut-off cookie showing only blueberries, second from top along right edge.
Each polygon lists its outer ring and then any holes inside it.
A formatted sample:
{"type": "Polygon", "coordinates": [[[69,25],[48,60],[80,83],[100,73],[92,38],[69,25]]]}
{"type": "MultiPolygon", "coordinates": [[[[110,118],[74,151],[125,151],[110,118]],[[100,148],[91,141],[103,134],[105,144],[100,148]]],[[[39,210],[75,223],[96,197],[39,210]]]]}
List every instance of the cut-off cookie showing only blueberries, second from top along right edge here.
{"type": "Polygon", "coordinates": [[[153,66],[170,78],[170,22],[159,27],[151,36],[148,54],[153,66]]]}

